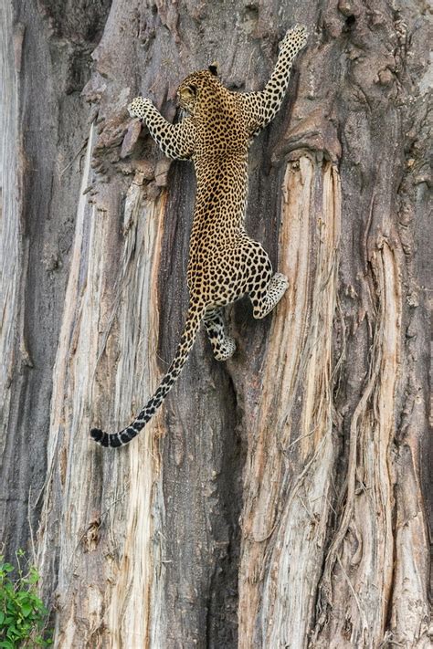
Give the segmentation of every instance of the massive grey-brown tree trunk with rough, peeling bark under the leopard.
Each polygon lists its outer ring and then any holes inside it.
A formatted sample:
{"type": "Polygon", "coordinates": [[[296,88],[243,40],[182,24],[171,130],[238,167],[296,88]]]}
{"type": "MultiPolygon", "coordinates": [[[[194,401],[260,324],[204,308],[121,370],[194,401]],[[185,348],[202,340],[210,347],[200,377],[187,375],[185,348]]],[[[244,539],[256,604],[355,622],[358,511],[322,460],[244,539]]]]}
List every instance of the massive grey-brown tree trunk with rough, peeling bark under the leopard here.
{"type": "MultiPolygon", "coordinates": [[[[56,646],[425,647],[428,7],[423,0],[4,0],[2,539],[56,646]],[[250,157],[248,230],[290,278],[238,353],[182,328],[195,193],[125,111],[168,119],[218,59],[259,89],[311,33],[250,157]]],[[[431,34],[430,34],[431,38],[431,34]]],[[[430,119],[431,122],[431,119],[430,119]]]]}

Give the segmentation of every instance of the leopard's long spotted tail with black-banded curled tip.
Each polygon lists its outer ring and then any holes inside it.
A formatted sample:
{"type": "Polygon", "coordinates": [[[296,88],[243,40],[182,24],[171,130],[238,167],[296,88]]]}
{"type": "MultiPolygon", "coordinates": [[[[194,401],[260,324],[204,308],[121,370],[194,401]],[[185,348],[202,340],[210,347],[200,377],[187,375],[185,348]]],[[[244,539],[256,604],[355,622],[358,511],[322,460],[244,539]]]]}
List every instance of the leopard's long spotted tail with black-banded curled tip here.
{"type": "Polygon", "coordinates": [[[95,440],[95,442],[98,442],[101,446],[113,447],[128,444],[128,442],[131,442],[131,440],[140,433],[144,425],[152,419],[153,414],[156,413],[160,405],[164,402],[165,397],[172,389],[179,374],[182,372],[182,368],[189,356],[189,352],[193,347],[195,336],[199,330],[204,312],[205,309],[198,306],[192,306],[188,310],[184,332],[174,355],[174,360],[162,382],[159,384],[158,389],[153,394],[153,397],[149,399],[142,412],[138,414],[132,424],[121,430],[120,433],[112,434],[104,433],[99,428],[92,428],[90,436],[95,440]]]}

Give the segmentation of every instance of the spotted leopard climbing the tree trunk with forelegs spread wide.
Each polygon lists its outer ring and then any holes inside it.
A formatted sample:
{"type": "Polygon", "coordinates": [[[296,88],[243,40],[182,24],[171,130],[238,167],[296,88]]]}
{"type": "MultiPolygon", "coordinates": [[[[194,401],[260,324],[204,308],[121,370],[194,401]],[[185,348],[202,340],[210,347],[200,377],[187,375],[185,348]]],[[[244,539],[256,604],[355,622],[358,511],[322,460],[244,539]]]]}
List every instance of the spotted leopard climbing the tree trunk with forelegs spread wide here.
{"type": "Polygon", "coordinates": [[[130,115],[146,124],[165,155],[194,162],[197,189],[187,271],[190,303],[174,361],[153,397],[120,433],[93,428],[90,435],[100,445],[127,444],[153,417],[179,376],[202,321],[216,360],[226,361],[236,345],[227,335],[224,307],[248,294],[254,318],[264,318],[284,295],[287,278],[273,274],[264,248],[244,228],[248,147],[280,109],[293,58],[306,41],[304,26],[287,32],[272,75],[258,92],[226,89],[215,66],[189,75],[177,92],[187,113],[179,123],[164,120],[150,99],[138,97],[128,106],[130,115]]]}

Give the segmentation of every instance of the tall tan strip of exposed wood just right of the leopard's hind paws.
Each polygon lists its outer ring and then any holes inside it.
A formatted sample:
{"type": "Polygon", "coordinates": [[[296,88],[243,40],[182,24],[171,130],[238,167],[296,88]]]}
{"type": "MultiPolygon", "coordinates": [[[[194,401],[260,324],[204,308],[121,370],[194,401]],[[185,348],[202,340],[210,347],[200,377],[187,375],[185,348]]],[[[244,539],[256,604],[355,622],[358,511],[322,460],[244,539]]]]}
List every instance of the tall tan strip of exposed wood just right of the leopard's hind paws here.
{"type": "Polygon", "coordinates": [[[290,288],[263,366],[263,383],[274,389],[263,394],[257,427],[249,431],[239,647],[307,644],[333,500],[336,169],[307,156],[291,162],[281,207],[281,270],[290,288]],[[291,468],[300,465],[301,471],[291,468]]]}

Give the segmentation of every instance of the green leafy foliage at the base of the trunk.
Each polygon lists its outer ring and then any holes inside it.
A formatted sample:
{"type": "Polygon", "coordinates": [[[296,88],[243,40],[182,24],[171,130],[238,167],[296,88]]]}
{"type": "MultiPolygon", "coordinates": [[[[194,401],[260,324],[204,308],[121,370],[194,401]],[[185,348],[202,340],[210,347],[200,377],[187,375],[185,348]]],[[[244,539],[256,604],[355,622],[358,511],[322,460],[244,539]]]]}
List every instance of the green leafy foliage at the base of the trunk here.
{"type": "Polygon", "coordinates": [[[52,644],[47,633],[48,611],[37,597],[39,574],[31,565],[24,572],[24,556],[23,550],[16,553],[15,567],[0,555],[0,649],[52,644]]]}

